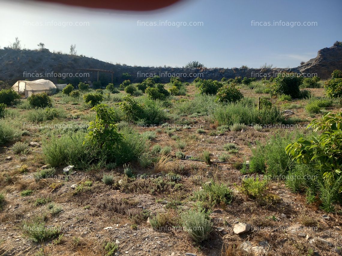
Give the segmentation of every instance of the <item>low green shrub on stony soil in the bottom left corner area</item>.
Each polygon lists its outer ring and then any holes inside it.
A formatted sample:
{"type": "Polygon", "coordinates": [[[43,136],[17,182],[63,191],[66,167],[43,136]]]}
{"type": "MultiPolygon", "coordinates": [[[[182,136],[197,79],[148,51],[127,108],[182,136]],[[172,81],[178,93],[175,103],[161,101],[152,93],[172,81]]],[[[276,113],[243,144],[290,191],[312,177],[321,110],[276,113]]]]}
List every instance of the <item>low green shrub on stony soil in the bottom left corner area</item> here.
{"type": "Polygon", "coordinates": [[[60,234],[58,228],[45,226],[44,218],[38,216],[32,217],[30,221],[24,221],[22,229],[32,241],[37,243],[52,240],[60,234]]]}

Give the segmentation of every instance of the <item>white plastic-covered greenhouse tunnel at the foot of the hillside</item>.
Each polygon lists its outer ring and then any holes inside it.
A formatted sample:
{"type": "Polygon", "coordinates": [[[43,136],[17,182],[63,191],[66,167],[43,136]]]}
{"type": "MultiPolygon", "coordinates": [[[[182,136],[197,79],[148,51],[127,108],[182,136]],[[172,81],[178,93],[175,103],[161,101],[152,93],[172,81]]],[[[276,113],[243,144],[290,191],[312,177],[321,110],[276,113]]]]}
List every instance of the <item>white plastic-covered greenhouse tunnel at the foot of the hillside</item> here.
{"type": "Polygon", "coordinates": [[[25,98],[35,93],[47,93],[52,95],[56,93],[56,86],[50,80],[38,79],[35,81],[17,81],[13,86],[13,90],[25,98]]]}

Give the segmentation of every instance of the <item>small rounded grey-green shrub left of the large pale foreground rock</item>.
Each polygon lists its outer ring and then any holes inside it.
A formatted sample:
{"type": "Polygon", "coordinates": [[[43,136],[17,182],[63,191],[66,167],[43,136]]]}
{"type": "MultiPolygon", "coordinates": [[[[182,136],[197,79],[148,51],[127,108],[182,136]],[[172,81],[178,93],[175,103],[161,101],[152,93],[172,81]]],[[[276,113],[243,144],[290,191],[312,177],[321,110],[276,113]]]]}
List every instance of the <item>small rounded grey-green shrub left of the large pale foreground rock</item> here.
{"type": "Polygon", "coordinates": [[[197,243],[209,238],[212,222],[204,211],[189,210],[181,214],[184,230],[197,243]]]}

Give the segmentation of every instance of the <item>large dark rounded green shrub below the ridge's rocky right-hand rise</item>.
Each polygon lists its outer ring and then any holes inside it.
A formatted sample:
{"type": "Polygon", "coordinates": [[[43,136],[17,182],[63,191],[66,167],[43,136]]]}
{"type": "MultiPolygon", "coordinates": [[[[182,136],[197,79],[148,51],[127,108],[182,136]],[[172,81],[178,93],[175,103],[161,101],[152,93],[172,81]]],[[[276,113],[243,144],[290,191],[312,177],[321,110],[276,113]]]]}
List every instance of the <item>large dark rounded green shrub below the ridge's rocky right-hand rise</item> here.
{"type": "Polygon", "coordinates": [[[274,95],[290,95],[291,98],[298,98],[300,89],[299,87],[303,83],[303,77],[296,73],[279,73],[277,77],[273,79],[271,85],[272,93],[274,95]]]}

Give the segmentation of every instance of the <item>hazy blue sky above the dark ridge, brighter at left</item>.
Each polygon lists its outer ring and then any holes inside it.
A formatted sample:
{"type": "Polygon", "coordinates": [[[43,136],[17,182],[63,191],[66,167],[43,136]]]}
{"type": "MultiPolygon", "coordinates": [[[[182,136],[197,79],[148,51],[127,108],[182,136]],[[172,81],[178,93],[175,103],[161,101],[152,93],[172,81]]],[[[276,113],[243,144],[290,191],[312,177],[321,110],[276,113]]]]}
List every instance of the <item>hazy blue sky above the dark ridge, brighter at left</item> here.
{"type": "Polygon", "coordinates": [[[75,44],[79,55],[130,66],[297,67],[342,41],[342,0],[185,0],[144,13],[13,0],[0,6],[1,48],[16,37],[51,52],[69,53],[75,44]]]}

